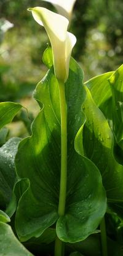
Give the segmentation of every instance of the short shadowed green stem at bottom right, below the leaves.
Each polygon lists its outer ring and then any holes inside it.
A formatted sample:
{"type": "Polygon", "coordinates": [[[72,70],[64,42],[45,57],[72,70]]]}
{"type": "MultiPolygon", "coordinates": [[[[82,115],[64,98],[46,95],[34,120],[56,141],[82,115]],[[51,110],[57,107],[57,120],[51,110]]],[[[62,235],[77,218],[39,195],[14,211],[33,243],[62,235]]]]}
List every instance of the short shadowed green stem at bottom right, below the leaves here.
{"type": "Polygon", "coordinates": [[[102,251],[102,256],[108,256],[105,217],[103,217],[103,219],[101,220],[100,231],[101,231],[101,251],[102,251]]]}

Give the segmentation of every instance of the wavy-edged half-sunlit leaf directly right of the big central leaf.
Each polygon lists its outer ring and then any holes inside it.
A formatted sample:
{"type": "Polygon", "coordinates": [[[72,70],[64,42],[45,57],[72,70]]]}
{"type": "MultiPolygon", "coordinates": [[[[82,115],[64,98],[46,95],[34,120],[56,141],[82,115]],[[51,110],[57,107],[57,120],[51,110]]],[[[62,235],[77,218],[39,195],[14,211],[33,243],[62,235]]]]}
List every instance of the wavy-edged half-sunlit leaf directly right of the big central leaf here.
{"type": "Polygon", "coordinates": [[[101,172],[103,185],[106,189],[108,202],[118,213],[122,215],[123,202],[123,166],[114,159],[113,132],[109,128],[103,113],[93,102],[89,89],[82,105],[86,116],[86,122],[83,130],[79,130],[76,136],[76,150],[84,153],[91,159],[101,172]],[[83,140],[81,145],[80,140],[83,140]],[[117,206],[117,207],[116,207],[117,206]],[[121,211],[120,211],[121,209],[121,211]]]}

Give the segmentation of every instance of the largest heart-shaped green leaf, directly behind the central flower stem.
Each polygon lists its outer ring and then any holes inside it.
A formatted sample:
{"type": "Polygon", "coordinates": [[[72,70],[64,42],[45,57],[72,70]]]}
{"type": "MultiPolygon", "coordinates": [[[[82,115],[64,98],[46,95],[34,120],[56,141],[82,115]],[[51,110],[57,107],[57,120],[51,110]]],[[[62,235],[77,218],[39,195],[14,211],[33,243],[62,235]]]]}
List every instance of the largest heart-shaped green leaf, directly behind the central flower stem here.
{"type": "Polygon", "coordinates": [[[60,218],[57,213],[60,100],[53,68],[36,87],[34,97],[41,108],[42,104],[44,107],[33,122],[31,137],[20,142],[15,160],[19,177],[30,180],[18,202],[16,214],[16,229],[22,241],[40,236],[55,222],[57,235],[62,241],[81,241],[97,228],[105,214],[106,198],[100,172],[92,161],[74,150],[74,138],[85,122],[81,111],[85,98],[82,79],[81,69],[71,60],[65,85],[68,105],[68,186],[65,216],[60,218]]]}

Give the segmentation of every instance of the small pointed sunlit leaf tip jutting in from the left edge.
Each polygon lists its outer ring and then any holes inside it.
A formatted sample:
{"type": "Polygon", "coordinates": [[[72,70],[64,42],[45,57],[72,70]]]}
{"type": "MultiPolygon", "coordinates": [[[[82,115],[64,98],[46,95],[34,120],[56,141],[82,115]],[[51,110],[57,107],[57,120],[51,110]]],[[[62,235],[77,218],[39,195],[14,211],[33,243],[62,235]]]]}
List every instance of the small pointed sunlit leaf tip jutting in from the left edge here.
{"type": "Polygon", "coordinates": [[[22,108],[22,105],[14,102],[0,103],[0,129],[12,121],[15,114],[22,108]]]}

